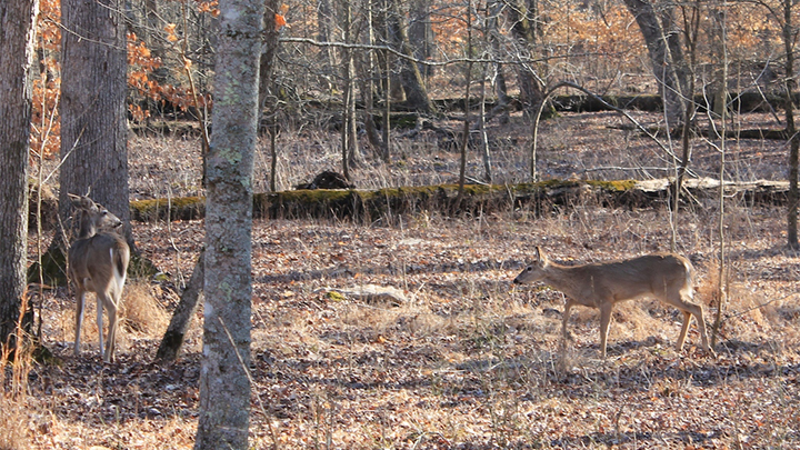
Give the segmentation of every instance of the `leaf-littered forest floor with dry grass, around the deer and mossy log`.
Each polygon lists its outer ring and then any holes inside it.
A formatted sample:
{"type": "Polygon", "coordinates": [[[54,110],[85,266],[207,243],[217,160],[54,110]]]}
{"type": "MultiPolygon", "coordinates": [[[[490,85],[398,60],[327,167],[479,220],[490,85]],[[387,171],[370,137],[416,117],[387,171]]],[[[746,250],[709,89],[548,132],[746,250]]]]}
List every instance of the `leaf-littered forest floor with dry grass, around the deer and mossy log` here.
{"type": "MultiPolygon", "coordinates": [[[[747,120],[753,128],[771,119],[747,120]]],[[[604,113],[546,122],[540,172],[668,174],[670,158],[621,124],[604,113]]],[[[506,142],[492,150],[496,180],[527,177],[524,133],[522,126],[490,130],[506,142]]],[[[326,144],[333,139],[284,137],[279,187],[338,167],[327,147],[334,146],[326,144]]],[[[732,179],[786,178],[783,142],[728,144],[732,179]]],[[[131,199],[201,193],[197,147],[132,137],[131,199]]],[[[718,142],[696,143],[697,176],[719,173],[718,149],[718,142]]],[[[269,164],[260,152],[257,190],[264,190],[269,164]]],[[[357,183],[432,183],[458,172],[457,153],[441,150],[436,137],[399,142],[398,152],[389,166],[364,158],[357,183]]],[[[469,167],[479,178],[477,157],[469,167]]],[[[252,448],[800,447],[800,253],[786,249],[781,208],[726,204],[728,298],[716,357],[699,349],[696,326],[676,351],[682,316],[654,300],[617,306],[606,359],[597,310],[577,307],[562,349],[562,294],[511,283],[537,246],[568,264],[668,250],[672,227],[664,209],[587,202],[539,217],[431,211],[391,219],[392,226],[253,223],[252,448]],[[397,288],[403,299],[341,293],[368,284],[397,288]]],[[[687,208],[676,227],[680,252],[698,270],[696,299],[709,324],[718,312],[719,228],[713,203],[687,208]]],[[[93,320],[86,321],[83,353],[74,357],[73,299],[64,288],[46,292],[43,341],[59,362],[31,366],[24,394],[0,399],[0,448],[192,447],[201,312],[179,361],[159,366],[153,356],[191,274],[203,223],[134,223],[133,233],[163,276],[127,286],[118,361],[101,363],[93,320]]],[[[13,384],[13,373],[4,373],[13,384]]]]}

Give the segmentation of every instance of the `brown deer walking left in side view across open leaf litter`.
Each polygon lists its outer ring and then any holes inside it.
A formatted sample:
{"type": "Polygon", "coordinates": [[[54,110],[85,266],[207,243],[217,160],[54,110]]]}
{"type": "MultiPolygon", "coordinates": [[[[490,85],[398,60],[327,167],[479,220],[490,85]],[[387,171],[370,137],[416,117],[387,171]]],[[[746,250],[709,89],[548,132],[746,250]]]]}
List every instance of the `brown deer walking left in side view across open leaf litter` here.
{"type": "Polygon", "coordinates": [[[567,303],[561,322],[562,340],[569,338],[567,321],[576,304],[600,310],[600,352],[606,359],[611,311],[617,302],[656,298],[683,312],[683,326],[677,350],[683,349],[692,316],[697,319],[702,348],[714,354],[708,344],[702,306],[692,302],[694,269],[677,253],[654,253],[637,258],[596,262],[582,266],[561,266],[550,261],[541,248],[536,248],[534,261],[514,278],[513,283],[542,281],[561,291],[567,303]]]}

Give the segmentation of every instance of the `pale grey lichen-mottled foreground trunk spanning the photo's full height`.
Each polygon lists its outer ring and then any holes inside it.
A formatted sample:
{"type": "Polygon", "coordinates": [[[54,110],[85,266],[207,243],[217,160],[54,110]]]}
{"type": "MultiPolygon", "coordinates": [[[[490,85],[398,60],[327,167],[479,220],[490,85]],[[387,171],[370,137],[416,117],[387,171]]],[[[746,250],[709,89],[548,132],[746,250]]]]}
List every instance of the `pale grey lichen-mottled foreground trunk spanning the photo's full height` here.
{"type": "Polygon", "coordinates": [[[252,171],[264,3],[221,0],[206,200],[200,411],[194,448],[248,449],[252,171]]]}

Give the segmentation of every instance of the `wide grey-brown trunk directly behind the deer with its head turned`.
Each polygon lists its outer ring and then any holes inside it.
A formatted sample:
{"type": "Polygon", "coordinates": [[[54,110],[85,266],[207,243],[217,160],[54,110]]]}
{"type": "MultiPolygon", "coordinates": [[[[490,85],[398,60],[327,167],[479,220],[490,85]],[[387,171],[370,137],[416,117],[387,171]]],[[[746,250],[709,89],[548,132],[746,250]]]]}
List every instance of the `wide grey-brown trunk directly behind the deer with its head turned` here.
{"type": "MultiPolygon", "coordinates": [[[[68,193],[102,203],[124,223],[133,244],[128,201],[126,89],[128,51],[123,0],[62,0],[61,159],[59,214],[68,193]]],[[[58,236],[58,233],[57,233],[58,236]]],[[[133,248],[133,247],[132,247],[133,248]]]]}

